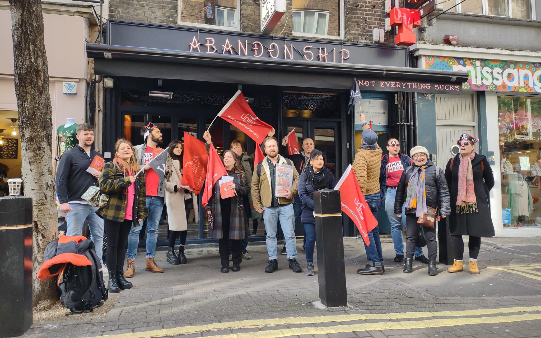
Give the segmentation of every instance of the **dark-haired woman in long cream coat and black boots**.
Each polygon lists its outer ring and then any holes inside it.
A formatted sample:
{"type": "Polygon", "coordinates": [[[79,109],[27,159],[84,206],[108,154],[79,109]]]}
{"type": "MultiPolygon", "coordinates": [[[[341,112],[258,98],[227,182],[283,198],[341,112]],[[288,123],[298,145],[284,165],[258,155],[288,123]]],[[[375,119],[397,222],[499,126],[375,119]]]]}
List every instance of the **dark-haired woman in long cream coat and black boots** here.
{"type": "Polygon", "coordinates": [[[195,222],[199,222],[199,210],[194,208],[197,204],[197,196],[189,190],[180,187],[182,181],[182,149],[184,144],[179,140],[169,143],[167,156],[166,175],[166,207],[169,227],[169,250],[167,262],[169,264],[186,264],[188,262],[184,254],[184,245],[188,236],[188,217],[194,210],[195,222]],[[195,203],[194,203],[195,201],[195,203]],[[179,254],[175,252],[176,238],[180,238],[179,254]]]}

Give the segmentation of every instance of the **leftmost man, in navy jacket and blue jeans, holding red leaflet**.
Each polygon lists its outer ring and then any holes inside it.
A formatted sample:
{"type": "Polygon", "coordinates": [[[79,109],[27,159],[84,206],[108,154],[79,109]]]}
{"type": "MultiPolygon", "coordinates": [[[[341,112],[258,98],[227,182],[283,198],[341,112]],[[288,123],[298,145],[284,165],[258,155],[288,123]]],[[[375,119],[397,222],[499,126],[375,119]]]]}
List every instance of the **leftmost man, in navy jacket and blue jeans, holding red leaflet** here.
{"type": "MultiPolygon", "coordinates": [[[[90,239],[94,242],[96,254],[102,262],[103,255],[103,220],[96,215],[97,207],[90,206],[81,197],[89,187],[97,183],[100,171],[88,173],[95,156],[103,156],[91,149],[94,143],[94,127],[81,123],[75,129],[77,140],[75,147],[68,149],[58,162],[55,183],[60,210],[66,214],[68,236],[81,236],[84,220],[88,221],[90,239]]],[[[103,263],[103,262],[102,262],[103,263]]]]}

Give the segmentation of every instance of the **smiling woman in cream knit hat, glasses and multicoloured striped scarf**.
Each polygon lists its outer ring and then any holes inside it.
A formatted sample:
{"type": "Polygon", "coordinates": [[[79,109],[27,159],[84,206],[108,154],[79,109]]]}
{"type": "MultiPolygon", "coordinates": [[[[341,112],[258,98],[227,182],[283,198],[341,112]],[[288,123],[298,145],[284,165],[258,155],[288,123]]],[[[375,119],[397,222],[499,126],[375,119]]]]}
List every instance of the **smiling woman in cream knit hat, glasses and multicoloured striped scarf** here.
{"type": "Polygon", "coordinates": [[[405,203],[407,237],[404,273],[411,274],[415,241],[421,230],[428,248],[428,275],[436,276],[438,274],[436,227],[427,227],[417,221],[420,216],[428,215],[428,208],[437,208],[441,217],[451,214],[449,189],[443,170],[428,160],[428,150],[425,147],[420,145],[413,147],[410,156],[413,159],[413,165],[402,173],[398,183],[397,197],[394,200],[394,213],[397,217],[402,216],[402,206],[405,203]]]}

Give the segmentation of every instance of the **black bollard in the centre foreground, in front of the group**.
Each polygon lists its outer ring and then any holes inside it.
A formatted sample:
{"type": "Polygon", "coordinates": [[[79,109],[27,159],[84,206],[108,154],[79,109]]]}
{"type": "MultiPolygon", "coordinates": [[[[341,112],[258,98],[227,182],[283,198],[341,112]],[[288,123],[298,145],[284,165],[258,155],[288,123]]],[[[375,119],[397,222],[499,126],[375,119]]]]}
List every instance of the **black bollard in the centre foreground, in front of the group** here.
{"type": "Polygon", "coordinates": [[[326,307],[347,306],[340,191],[315,191],[314,213],[321,303],[326,307]]]}

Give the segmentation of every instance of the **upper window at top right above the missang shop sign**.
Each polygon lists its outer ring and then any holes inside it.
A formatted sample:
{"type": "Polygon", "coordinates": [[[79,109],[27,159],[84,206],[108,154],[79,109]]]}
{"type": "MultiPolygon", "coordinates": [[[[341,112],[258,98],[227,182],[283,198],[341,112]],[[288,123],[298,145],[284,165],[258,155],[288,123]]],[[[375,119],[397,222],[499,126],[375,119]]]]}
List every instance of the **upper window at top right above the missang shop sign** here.
{"type": "MultiPolygon", "coordinates": [[[[518,19],[534,19],[532,0],[467,0],[450,11],[481,15],[506,16],[518,19]]],[[[449,9],[459,1],[440,1],[438,8],[449,9]]]]}

